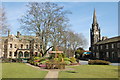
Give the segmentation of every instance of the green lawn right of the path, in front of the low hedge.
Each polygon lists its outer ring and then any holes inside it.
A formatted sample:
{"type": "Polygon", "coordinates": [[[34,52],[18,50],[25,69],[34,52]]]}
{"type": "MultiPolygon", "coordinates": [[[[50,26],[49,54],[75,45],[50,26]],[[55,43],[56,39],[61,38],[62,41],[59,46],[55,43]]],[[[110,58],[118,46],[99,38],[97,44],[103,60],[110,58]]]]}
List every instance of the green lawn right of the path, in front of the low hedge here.
{"type": "Polygon", "coordinates": [[[72,71],[59,72],[59,78],[118,78],[118,66],[80,65],[69,66],[72,71]]]}

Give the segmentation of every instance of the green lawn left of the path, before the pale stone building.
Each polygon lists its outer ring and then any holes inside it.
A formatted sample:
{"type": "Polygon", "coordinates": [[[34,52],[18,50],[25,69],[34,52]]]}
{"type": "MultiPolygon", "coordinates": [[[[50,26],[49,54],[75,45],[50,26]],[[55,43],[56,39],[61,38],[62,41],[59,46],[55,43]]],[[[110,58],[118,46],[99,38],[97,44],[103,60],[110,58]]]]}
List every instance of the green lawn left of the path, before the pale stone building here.
{"type": "Polygon", "coordinates": [[[24,63],[2,64],[2,78],[44,78],[46,74],[24,63]]]}

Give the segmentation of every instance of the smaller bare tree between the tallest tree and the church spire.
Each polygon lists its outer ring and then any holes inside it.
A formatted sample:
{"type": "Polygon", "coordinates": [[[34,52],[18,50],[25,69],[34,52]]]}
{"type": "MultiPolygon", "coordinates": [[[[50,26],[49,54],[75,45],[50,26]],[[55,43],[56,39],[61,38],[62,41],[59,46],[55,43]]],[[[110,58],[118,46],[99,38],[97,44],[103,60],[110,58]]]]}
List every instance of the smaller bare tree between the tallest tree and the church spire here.
{"type": "Polygon", "coordinates": [[[74,55],[75,50],[78,47],[85,48],[87,45],[87,40],[82,34],[74,33],[73,31],[67,31],[64,34],[64,49],[68,56],[74,55]]]}

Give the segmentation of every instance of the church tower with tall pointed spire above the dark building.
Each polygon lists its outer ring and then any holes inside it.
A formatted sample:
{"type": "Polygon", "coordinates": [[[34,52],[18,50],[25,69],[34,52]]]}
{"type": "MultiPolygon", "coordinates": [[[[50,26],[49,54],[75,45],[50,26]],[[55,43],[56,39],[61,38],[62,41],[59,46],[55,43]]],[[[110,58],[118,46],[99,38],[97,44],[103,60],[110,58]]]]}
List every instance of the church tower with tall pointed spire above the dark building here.
{"type": "Polygon", "coordinates": [[[96,11],[94,9],[92,28],[90,29],[91,46],[100,41],[100,28],[97,23],[96,11]]]}

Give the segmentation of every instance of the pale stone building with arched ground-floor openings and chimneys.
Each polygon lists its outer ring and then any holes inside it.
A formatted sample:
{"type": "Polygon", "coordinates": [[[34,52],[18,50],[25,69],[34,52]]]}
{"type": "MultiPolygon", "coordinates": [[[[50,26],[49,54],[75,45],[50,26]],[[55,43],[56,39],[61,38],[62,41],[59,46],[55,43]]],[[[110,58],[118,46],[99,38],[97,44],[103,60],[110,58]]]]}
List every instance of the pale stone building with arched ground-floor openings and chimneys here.
{"type": "MultiPolygon", "coordinates": [[[[40,39],[36,36],[25,36],[17,32],[17,35],[1,37],[1,57],[3,58],[30,58],[31,55],[39,55],[41,51],[40,39]]],[[[41,54],[40,54],[41,55],[41,54]]]]}

